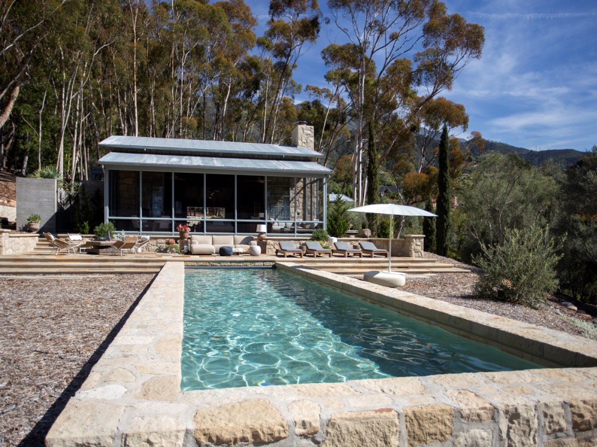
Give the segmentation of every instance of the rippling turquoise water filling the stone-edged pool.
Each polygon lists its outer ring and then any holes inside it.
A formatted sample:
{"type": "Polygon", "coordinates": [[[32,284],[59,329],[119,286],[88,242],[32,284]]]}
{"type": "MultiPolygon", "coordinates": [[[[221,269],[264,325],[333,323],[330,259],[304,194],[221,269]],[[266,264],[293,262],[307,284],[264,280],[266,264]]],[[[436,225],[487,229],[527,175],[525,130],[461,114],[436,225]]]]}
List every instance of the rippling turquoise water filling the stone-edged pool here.
{"type": "Polygon", "coordinates": [[[184,287],[184,391],[540,368],[275,269],[186,269],[184,287]]]}

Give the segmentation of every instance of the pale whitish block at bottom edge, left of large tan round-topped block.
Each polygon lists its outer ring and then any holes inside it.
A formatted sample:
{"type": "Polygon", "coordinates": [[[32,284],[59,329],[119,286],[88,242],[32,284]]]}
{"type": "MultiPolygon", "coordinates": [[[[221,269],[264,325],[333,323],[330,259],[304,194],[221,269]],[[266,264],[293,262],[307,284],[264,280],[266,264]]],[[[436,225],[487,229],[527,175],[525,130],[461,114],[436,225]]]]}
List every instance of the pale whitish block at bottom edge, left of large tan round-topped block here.
{"type": "Polygon", "coordinates": [[[182,446],[184,423],[168,416],[134,418],[122,433],[124,447],[182,446]]]}

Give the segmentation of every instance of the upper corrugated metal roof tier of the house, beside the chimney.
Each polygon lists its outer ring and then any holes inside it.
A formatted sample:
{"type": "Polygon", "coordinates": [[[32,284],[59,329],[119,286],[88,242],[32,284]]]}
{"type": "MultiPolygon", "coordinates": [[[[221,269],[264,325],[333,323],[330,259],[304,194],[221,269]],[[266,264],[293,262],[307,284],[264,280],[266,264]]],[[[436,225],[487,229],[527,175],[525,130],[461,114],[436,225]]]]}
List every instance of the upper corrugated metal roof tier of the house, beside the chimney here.
{"type": "Polygon", "coordinates": [[[307,147],[280,146],[277,144],[241,143],[236,141],[204,141],[201,139],[149,138],[146,136],[112,135],[99,143],[103,147],[197,151],[226,154],[267,154],[297,157],[321,157],[307,147]]]}

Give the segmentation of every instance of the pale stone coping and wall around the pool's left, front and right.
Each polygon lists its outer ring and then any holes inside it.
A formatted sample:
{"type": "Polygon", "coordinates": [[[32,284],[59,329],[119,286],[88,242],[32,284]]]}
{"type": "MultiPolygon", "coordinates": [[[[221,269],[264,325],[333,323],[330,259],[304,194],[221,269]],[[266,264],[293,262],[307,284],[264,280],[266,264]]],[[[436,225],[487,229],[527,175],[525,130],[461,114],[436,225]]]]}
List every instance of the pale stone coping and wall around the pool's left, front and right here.
{"type": "Polygon", "coordinates": [[[555,447],[597,439],[597,343],[291,262],[276,268],[494,346],[513,342],[509,349],[524,356],[562,355],[568,367],[182,392],[184,265],[166,262],[46,445],[555,447]]]}

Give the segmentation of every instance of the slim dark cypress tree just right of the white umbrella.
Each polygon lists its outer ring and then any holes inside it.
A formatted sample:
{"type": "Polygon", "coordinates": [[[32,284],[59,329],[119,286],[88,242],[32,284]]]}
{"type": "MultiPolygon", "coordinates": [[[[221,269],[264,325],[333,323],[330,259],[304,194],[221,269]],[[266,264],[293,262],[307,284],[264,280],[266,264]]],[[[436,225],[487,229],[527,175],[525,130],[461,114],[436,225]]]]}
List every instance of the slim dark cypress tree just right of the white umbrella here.
{"type": "Polygon", "coordinates": [[[438,201],[435,221],[436,250],[439,256],[448,256],[450,249],[450,142],[448,141],[448,126],[444,123],[442,138],[439,141],[439,173],[438,173],[438,201]]]}

